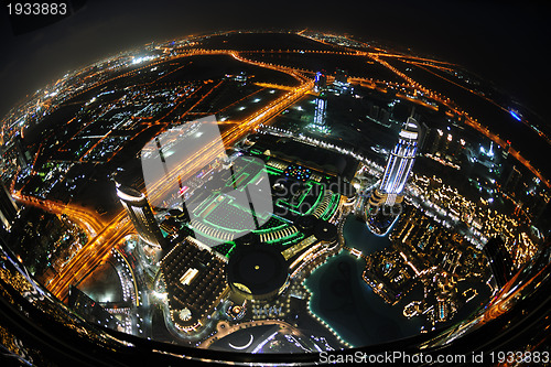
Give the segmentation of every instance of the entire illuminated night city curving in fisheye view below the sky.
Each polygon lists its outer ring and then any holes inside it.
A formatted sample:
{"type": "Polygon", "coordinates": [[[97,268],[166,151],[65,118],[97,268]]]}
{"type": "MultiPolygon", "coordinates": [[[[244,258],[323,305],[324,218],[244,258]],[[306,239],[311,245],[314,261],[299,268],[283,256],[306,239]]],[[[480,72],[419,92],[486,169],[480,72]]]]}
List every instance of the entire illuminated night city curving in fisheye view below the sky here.
{"type": "Polygon", "coordinates": [[[551,234],[551,127],[455,64],[346,34],[148,43],[1,129],[18,261],[88,322],[164,343],[455,338],[527,291],[514,274],[551,234]]]}

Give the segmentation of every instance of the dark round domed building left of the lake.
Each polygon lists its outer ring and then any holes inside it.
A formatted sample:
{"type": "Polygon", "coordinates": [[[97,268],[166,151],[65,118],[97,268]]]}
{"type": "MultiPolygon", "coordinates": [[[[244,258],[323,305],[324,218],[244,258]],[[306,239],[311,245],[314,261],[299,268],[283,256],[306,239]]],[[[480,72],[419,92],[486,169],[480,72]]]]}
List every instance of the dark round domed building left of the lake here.
{"type": "Polygon", "coordinates": [[[289,267],[280,251],[270,245],[239,246],[227,265],[231,290],[249,300],[278,295],[289,278],[289,267]]]}

